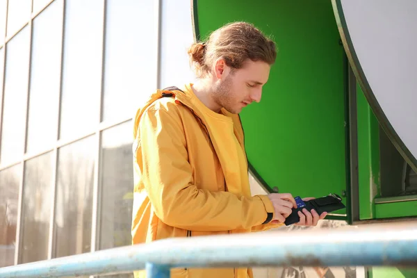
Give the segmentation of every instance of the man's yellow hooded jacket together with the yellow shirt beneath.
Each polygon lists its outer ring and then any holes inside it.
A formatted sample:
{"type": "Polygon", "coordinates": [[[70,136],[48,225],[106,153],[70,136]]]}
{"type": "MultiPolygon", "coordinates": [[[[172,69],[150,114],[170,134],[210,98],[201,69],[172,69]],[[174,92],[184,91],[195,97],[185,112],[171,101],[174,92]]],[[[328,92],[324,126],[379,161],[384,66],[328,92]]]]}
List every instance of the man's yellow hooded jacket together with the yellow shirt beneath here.
{"type": "MultiPolygon", "coordinates": [[[[156,90],[136,113],[133,244],[280,225],[263,224],[273,218],[272,203],[251,196],[239,116],[211,111],[191,85],[156,90]]],[[[144,271],[136,277],[145,277],[144,271]]],[[[246,278],[252,270],[176,268],[171,277],[246,278]]]]}

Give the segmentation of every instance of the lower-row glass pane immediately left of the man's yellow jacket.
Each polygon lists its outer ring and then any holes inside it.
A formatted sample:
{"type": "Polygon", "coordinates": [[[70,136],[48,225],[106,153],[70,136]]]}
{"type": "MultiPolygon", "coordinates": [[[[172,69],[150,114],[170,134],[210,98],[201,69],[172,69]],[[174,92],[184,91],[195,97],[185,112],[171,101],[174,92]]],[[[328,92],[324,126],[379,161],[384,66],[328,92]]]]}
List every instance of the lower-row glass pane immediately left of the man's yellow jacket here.
{"type": "Polygon", "coordinates": [[[103,131],[99,249],[131,245],[133,165],[131,122],[103,131]]]}

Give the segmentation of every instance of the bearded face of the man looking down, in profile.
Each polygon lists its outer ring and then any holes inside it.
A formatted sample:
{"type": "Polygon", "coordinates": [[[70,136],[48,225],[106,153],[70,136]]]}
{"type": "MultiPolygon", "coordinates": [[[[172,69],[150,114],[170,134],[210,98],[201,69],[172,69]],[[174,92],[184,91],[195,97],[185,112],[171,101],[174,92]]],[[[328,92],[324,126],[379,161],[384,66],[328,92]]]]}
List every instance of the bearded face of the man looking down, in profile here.
{"type": "Polygon", "coordinates": [[[242,68],[231,71],[225,66],[215,83],[213,100],[230,113],[238,114],[252,101],[261,101],[262,87],[268,81],[270,65],[247,60],[242,68]]]}

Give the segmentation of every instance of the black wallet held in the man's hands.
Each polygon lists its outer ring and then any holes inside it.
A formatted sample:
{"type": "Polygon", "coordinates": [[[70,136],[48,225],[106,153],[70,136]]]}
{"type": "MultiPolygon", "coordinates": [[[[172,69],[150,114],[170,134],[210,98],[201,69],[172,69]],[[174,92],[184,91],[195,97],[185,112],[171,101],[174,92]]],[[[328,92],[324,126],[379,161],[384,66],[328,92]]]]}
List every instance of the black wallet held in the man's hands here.
{"type": "MultiPolygon", "coordinates": [[[[297,198],[300,199],[300,198],[297,198]]],[[[297,202],[298,203],[298,202],[297,202]]],[[[346,206],[342,203],[342,198],[337,194],[329,194],[317,199],[311,199],[305,201],[302,206],[297,204],[297,208],[293,208],[293,212],[288,215],[288,218],[285,220],[286,226],[300,222],[300,216],[298,211],[302,212],[303,208],[306,208],[307,211],[314,209],[318,215],[321,215],[324,212],[331,213],[332,211],[337,211],[346,206]]]]}

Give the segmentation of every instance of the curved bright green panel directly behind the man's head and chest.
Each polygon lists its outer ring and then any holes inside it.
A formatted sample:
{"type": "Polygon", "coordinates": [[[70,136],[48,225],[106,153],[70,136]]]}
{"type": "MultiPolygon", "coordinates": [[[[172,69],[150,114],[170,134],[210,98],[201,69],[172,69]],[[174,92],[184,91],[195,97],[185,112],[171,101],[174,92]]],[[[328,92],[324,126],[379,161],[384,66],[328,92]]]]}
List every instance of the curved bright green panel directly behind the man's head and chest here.
{"type": "Polygon", "coordinates": [[[341,195],[347,184],[347,64],[332,3],[199,0],[196,6],[202,40],[227,22],[246,21],[277,42],[277,63],[261,102],[240,114],[248,159],[265,185],[294,196],[341,195]]]}

